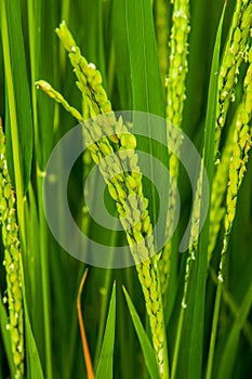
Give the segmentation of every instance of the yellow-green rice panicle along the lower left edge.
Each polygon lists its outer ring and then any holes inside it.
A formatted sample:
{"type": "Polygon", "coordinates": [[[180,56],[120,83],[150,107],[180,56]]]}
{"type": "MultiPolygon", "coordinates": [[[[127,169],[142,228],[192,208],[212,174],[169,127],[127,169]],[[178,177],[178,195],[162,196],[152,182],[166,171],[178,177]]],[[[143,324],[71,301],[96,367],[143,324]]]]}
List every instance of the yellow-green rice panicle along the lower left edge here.
{"type": "Polygon", "coordinates": [[[23,301],[22,280],[19,269],[19,239],[15,214],[15,196],[8,171],[5,143],[2,125],[0,123],[0,223],[2,243],[4,247],[3,265],[6,272],[6,296],[3,302],[8,303],[11,350],[15,367],[15,378],[24,375],[24,332],[23,332],[23,301]]]}

